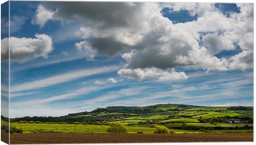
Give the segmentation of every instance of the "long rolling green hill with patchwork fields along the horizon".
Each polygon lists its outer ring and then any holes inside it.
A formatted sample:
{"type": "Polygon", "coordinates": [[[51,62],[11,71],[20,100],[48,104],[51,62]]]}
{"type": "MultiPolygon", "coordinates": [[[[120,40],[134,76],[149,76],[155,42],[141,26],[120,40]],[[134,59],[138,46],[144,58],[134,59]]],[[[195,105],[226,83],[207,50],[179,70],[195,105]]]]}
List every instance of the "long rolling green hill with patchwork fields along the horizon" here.
{"type": "MultiPolygon", "coordinates": [[[[222,115],[232,117],[253,117],[253,107],[245,106],[229,106],[229,107],[210,107],[210,106],[194,106],[183,104],[157,104],[144,107],[132,106],[110,106],[107,108],[98,108],[91,112],[71,113],[60,117],[20,117],[11,118],[11,122],[19,121],[39,121],[39,122],[97,122],[97,121],[116,121],[121,120],[136,120],[136,119],[168,119],[169,115],[193,116],[214,116],[221,117],[222,115]],[[145,116],[146,115],[146,116],[145,116]]],[[[6,120],[6,117],[1,116],[1,119],[6,120]]]]}

